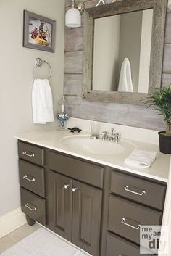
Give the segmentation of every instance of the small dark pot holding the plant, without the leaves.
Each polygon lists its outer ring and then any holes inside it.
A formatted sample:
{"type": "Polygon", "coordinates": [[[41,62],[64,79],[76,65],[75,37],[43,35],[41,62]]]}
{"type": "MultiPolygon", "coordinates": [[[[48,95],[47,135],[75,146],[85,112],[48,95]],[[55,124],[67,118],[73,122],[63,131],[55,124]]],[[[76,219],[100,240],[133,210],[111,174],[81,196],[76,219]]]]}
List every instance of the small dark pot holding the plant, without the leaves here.
{"type": "Polygon", "coordinates": [[[160,131],[159,134],[159,150],[164,154],[171,154],[171,136],[165,136],[162,133],[164,131],[160,131]]]}

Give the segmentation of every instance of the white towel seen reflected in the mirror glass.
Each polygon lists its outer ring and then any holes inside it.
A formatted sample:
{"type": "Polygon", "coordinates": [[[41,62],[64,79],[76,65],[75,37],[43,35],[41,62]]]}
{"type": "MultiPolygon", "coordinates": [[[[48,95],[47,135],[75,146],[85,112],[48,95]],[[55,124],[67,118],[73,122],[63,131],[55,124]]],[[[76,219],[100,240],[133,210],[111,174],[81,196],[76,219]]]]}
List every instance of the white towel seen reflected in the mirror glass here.
{"type": "Polygon", "coordinates": [[[133,92],[133,82],[131,78],[131,68],[129,59],[125,58],[120,70],[120,81],[117,91],[133,92]]]}

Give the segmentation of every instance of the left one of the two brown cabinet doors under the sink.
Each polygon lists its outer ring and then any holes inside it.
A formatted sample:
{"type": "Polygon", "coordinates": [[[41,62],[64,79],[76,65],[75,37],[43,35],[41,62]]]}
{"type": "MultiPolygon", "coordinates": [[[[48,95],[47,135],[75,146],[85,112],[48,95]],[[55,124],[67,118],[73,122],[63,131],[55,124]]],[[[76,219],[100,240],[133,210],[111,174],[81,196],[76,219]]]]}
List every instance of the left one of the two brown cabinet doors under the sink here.
{"type": "Polygon", "coordinates": [[[72,240],[72,180],[48,172],[46,177],[47,226],[59,236],[72,240]]]}

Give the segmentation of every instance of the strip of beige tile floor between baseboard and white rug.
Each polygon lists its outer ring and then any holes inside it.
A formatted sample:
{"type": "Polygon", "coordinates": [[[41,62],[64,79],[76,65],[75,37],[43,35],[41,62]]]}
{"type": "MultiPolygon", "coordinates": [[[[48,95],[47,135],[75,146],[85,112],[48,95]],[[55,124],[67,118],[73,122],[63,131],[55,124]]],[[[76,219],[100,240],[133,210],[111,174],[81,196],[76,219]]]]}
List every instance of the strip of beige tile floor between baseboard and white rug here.
{"type": "Polygon", "coordinates": [[[25,224],[24,226],[21,226],[20,228],[17,228],[16,230],[7,234],[7,236],[0,238],[0,254],[6,249],[12,247],[12,245],[17,244],[18,241],[21,241],[26,236],[32,234],[38,228],[40,228],[40,226],[37,223],[33,226],[28,226],[28,224],[25,224]]]}

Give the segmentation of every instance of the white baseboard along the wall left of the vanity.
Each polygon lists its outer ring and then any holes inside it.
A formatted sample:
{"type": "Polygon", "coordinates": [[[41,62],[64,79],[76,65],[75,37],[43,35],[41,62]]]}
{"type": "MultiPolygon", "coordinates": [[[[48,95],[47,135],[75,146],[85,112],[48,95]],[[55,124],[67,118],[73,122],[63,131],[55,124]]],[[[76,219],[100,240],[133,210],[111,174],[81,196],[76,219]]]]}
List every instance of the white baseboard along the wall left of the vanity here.
{"type": "Polygon", "coordinates": [[[14,231],[26,223],[25,214],[21,208],[12,210],[7,214],[0,216],[0,238],[14,231]]]}

